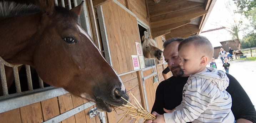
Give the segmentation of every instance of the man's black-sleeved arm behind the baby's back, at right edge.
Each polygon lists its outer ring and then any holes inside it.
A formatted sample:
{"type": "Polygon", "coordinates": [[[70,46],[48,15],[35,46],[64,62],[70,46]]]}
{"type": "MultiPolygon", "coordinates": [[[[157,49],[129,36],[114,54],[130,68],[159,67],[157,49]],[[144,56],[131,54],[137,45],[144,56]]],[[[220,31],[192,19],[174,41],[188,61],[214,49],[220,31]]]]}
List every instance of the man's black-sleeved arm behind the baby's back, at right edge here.
{"type": "Polygon", "coordinates": [[[256,111],[249,96],[233,76],[226,74],[229,77],[229,86],[226,91],[232,97],[231,110],[235,116],[236,123],[256,123],[256,111]]]}

